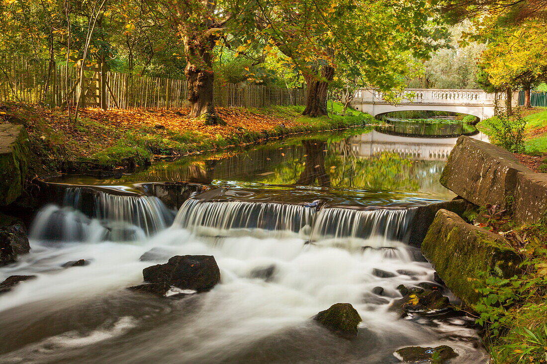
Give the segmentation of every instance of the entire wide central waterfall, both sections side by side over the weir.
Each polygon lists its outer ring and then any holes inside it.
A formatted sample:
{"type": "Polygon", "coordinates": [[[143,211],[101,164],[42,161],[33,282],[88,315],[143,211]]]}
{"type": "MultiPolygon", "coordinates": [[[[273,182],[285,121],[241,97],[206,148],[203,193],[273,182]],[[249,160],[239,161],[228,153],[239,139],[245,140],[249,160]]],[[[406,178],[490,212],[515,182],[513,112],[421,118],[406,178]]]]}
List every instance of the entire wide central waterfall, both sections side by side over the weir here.
{"type": "Polygon", "coordinates": [[[200,236],[298,236],[312,243],[380,247],[405,241],[414,210],[331,207],[317,212],[303,204],[190,198],[173,226],[200,236]]]}

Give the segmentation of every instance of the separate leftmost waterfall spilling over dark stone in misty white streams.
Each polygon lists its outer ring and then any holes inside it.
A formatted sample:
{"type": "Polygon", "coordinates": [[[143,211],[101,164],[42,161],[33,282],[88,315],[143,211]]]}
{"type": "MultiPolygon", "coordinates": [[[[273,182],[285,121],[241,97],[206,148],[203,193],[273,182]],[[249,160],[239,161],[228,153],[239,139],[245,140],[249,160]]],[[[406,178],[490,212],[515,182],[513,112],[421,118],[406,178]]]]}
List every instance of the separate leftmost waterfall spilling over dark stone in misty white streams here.
{"type": "Polygon", "coordinates": [[[154,196],[112,195],[69,187],[61,206],[40,209],[30,236],[61,242],[143,240],[167,228],[172,219],[173,214],[154,196]]]}

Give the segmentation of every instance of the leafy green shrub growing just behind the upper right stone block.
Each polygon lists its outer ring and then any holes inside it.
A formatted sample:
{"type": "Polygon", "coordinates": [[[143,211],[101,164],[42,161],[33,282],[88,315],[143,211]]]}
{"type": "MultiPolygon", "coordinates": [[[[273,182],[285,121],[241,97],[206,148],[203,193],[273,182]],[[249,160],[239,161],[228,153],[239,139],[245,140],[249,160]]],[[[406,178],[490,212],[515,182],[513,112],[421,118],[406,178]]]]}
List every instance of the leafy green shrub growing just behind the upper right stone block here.
{"type": "Polygon", "coordinates": [[[485,120],[485,124],[490,128],[490,136],[495,144],[514,153],[525,151],[526,120],[519,113],[494,116],[485,120]]]}

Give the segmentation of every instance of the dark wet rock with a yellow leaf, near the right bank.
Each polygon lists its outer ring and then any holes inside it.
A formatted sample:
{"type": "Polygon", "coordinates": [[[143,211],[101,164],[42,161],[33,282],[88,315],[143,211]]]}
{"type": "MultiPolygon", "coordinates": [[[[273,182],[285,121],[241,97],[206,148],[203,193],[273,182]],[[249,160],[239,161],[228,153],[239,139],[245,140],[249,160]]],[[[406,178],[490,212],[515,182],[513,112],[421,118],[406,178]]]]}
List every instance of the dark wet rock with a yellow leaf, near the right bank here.
{"type": "Polygon", "coordinates": [[[449,299],[439,291],[427,291],[418,287],[405,287],[399,285],[397,290],[403,295],[403,298],[393,302],[391,310],[397,310],[401,314],[410,312],[427,312],[432,310],[442,310],[449,307],[449,299]]]}

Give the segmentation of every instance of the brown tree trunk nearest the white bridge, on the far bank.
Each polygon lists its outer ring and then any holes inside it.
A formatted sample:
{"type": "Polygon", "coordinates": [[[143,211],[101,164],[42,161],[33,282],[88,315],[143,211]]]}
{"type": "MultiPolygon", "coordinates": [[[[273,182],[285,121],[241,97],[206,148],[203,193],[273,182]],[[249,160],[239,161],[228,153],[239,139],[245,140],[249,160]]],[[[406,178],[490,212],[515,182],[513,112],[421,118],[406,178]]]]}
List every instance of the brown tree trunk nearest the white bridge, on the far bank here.
{"type": "Polygon", "coordinates": [[[313,118],[328,115],[327,113],[327,90],[334,77],[334,68],[322,66],[321,74],[310,73],[304,75],[306,80],[306,108],[302,115],[309,115],[313,118]]]}

